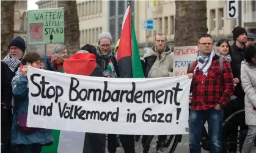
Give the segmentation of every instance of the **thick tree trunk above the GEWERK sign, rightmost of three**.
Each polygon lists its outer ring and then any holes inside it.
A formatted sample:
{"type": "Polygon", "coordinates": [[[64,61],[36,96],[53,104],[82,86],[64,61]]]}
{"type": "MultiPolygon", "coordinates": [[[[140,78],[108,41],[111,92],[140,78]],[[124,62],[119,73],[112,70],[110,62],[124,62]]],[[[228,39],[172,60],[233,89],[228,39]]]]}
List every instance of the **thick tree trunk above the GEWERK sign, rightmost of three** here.
{"type": "Polygon", "coordinates": [[[174,46],[196,46],[207,33],[207,1],[175,1],[174,46]]]}

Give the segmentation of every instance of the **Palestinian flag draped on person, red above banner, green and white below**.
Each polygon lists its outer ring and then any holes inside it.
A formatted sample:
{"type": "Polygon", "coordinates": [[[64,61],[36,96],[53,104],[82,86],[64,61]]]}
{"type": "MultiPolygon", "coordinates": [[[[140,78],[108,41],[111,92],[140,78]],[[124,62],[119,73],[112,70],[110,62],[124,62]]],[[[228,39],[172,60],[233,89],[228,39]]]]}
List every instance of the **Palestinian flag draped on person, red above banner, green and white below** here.
{"type": "MultiPolygon", "coordinates": [[[[76,53],[64,61],[63,73],[103,77],[96,56],[92,53],[76,53]]],[[[57,123],[56,123],[57,124],[57,123]]],[[[53,130],[54,141],[51,146],[43,146],[41,153],[86,153],[85,132],[53,130]]]]}

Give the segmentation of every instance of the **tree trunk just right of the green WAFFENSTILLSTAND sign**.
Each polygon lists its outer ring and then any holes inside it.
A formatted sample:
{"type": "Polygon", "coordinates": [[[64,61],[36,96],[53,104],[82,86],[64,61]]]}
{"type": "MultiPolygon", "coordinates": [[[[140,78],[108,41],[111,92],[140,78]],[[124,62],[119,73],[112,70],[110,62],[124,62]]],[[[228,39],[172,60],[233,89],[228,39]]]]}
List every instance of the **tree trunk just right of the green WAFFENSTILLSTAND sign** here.
{"type": "Polygon", "coordinates": [[[65,46],[68,50],[68,55],[73,55],[79,50],[80,31],[78,9],[76,1],[57,1],[58,7],[65,9],[65,46]]]}

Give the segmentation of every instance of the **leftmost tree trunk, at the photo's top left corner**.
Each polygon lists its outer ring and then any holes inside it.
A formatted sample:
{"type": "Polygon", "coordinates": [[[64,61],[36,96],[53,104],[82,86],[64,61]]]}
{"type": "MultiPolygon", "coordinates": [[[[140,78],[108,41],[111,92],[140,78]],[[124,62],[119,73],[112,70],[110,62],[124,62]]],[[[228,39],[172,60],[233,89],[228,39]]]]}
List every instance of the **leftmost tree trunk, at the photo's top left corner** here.
{"type": "Polygon", "coordinates": [[[13,39],[15,1],[1,1],[1,60],[9,53],[13,39]]]}

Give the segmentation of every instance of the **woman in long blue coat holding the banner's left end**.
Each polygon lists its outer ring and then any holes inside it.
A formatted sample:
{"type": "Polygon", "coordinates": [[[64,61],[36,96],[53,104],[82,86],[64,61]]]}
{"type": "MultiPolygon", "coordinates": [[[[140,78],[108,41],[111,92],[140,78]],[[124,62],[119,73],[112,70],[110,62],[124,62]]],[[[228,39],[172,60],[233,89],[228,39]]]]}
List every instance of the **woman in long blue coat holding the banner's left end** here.
{"type": "Polygon", "coordinates": [[[27,67],[41,69],[42,60],[38,53],[27,53],[21,61],[21,76],[13,88],[15,107],[13,109],[11,142],[16,145],[19,153],[40,153],[43,145],[53,142],[50,129],[27,127],[27,112],[29,104],[29,89],[27,86],[27,67]]]}

